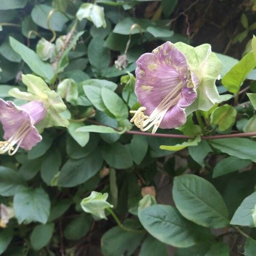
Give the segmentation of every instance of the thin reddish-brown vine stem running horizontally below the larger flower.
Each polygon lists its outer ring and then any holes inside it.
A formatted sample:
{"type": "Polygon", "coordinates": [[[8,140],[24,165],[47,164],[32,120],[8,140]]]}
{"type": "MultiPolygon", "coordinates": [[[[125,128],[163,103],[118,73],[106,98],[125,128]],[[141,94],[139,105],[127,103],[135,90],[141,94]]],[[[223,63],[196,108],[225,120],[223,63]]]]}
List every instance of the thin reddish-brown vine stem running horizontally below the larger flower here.
{"type": "MultiPolygon", "coordinates": [[[[82,120],[82,119],[80,119],[82,120]]],[[[76,120],[76,122],[79,122],[76,120]]],[[[105,125],[100,122],[86,119],[86,122],[90,122],[95,125],[103,125],[108,126],[113,129],[116,129],[110,125],[105,125]]],[[[191,139],[189,136],[180,135],[180,134],[151,134],[150,132],[142,132],[142,131],[125,131],[126,134],[135,134],[135,135],[144,135],[144,136],[152,136],[152,137],[163,137],[163,138],[176,138],[176,139],[191,139]]],[[[226,138],[237,138],[237,137],[250,137],[256,136],[256,132],[245,132],[245,133],[236,133],[236,134],[221,134],[221,135],[210,135],[210,136],[201,136],[202,140],[215,140],[215,139],[226,139],[226,138]]]]}

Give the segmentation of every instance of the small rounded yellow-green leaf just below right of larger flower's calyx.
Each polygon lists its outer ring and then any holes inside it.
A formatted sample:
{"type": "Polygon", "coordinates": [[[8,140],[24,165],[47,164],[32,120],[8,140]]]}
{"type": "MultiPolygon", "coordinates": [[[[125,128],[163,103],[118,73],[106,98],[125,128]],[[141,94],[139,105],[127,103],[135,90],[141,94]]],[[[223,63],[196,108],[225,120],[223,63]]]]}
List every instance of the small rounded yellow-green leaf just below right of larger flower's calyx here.
{"type": "Polygon", "coordinates": [[[225,104],[212,111],[210,121],[212,125],[218,125],[220,131],[225,131],[236,122],[236,114],[235,108],[225,104]]]}

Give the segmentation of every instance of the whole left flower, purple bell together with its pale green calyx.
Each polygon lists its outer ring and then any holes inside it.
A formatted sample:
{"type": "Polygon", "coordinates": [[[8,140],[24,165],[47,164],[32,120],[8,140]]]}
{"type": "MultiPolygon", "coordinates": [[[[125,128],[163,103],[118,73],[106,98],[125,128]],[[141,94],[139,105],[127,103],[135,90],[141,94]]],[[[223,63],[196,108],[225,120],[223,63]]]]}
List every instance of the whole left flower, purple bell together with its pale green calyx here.
{"type": "Polygon", "coordinates": [[[28,92],[14,88],[9,94],[28,103],[18,107],[11,101],[0,99],[0,122],[5,139],[0,142],[0,154],[13,155],[18,148],[30,150],[42,140],[39,133],[44,128],[69,125],[68,120],[59,115],[66,110],[66,105],[58,93],[50,90],[40,77],[23,75],[22,81],[28,92]]]}

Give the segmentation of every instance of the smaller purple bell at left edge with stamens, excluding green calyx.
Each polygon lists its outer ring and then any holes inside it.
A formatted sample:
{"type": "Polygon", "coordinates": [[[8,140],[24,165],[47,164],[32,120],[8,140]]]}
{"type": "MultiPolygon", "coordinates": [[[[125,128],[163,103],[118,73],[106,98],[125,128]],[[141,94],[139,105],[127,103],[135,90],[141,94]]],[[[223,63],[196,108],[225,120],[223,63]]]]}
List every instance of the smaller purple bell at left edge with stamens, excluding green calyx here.
{"type": "Polygon", "coordinates": [[[0,154],[8,151],[9,155],[14,155],[19,147],[30,150],[40,142],[42,137],[34,125],[40,122],[46,113],[42,103],[37,101],[18,107],[11,101],[0,99],[0,122],[6,140],[0,142],[0,154]]]}

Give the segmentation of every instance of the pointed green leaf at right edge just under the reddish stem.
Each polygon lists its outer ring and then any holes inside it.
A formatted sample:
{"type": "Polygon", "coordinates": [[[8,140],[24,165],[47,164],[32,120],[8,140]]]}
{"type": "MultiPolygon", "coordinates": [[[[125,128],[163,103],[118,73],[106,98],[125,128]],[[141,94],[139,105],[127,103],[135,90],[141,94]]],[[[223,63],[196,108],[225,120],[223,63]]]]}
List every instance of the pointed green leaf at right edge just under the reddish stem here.
{"type": "Polygon", "coordinates": [[[245,138],[227,138],[210,140],[210,143],[221,152],[241,159],[250,159],[256,162],[256,142],[245,138]]]}

